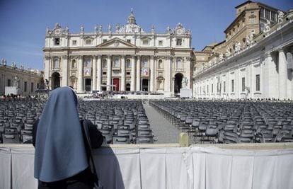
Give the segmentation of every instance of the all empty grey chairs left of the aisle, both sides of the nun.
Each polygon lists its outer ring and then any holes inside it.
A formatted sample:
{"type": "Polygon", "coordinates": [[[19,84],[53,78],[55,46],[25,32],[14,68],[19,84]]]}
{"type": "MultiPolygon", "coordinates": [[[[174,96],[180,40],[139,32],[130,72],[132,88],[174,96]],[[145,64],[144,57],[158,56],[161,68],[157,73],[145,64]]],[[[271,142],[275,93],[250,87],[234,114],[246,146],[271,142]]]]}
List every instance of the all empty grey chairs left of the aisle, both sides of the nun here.
{"type": "MultiPolygon", "coordinates": [[[[0,142],[31,143],[33,123],[46,100],[9,99],[0,102],[0,142]]],[[[141,101],[82,101],[79,116],[91,120],[108,144],[151,144],[153,134],[141,101]]]]}

